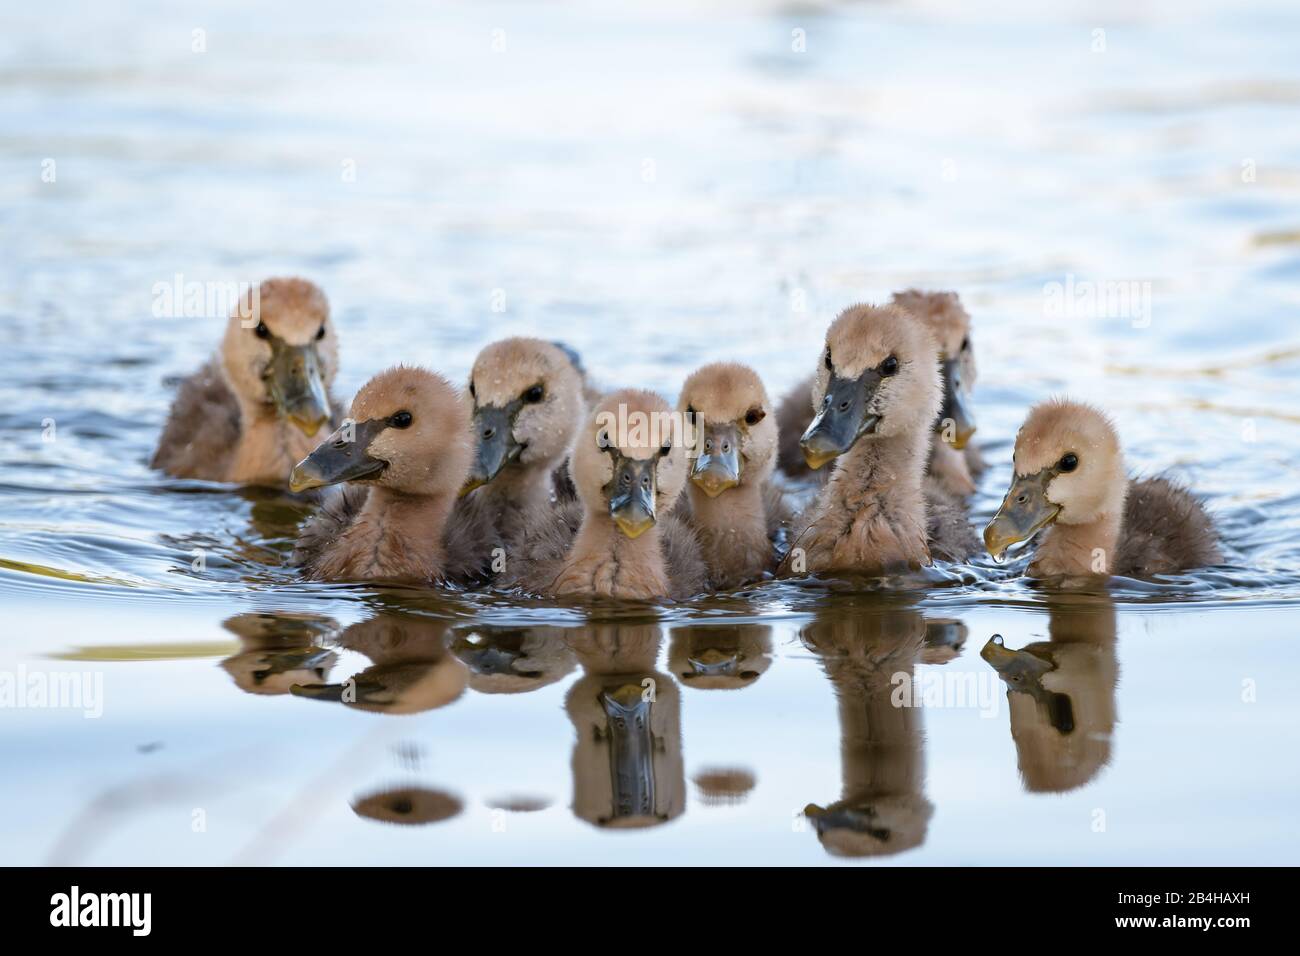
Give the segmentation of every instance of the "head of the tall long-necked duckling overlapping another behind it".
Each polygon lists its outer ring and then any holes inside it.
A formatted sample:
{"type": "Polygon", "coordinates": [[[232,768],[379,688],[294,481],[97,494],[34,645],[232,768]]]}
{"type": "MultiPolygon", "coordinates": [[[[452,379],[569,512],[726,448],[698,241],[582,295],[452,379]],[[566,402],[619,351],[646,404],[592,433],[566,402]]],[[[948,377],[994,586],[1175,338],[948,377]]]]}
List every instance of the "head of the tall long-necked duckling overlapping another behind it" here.
{"type": "Polygon", "coordinates": [[[930,330],[898,306],[852,306],[826,333],[812,390],[816,418],[800,446],[820,468],[859,438],[923,429],[939,414],[939,350],[930,330]]]}

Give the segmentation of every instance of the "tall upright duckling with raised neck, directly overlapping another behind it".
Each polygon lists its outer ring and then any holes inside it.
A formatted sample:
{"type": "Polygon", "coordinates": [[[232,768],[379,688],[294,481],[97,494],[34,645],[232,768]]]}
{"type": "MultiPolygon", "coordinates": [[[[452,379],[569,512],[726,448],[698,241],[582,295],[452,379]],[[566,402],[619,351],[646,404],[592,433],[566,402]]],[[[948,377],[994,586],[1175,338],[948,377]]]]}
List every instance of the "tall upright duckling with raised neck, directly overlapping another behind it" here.
{"type": "Polygon", "coordinates": [[[832,323],[819,411],[801,446],[812,468],[838,460],[797,522],[783,571],[887,574],[930,563],[923,477],[941,401],[936,356],[928,329],[898,306],[852,306],[832,323]]]}

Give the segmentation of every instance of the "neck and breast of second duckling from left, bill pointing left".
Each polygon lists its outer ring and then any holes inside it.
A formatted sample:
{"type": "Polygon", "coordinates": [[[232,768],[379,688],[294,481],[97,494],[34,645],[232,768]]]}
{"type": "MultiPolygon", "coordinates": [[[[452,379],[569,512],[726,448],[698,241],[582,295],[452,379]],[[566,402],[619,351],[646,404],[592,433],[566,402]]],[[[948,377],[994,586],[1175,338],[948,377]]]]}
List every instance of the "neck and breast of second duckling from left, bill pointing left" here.
{"type": "Polygon", "coordinates": [[[442,576],[442,542],[454,494],[404,494],[373,486],[356,519],[321,562],[324,578],[430,583],[442,576]]]}

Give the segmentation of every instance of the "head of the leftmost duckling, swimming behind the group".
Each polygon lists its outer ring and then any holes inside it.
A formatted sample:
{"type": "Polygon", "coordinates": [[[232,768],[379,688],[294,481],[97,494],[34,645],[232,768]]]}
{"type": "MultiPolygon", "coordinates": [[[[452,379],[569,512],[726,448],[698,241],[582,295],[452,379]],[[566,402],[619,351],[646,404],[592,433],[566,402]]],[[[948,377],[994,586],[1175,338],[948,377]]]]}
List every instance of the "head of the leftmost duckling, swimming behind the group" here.
{"type": "Polygon", "coordinates": [[[221,364],[242,402],[265,406],[303,434],[330,420],[338,339],[325,294],[303,278],[268,278],[230,316],[221,364]]]}

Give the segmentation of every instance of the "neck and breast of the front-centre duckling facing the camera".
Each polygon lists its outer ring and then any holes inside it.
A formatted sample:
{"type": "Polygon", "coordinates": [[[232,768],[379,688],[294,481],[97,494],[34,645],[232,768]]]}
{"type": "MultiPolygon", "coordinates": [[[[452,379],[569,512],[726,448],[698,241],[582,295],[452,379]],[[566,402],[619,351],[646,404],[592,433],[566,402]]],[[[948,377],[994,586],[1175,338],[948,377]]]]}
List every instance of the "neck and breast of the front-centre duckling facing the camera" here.
{"type": "Polygon", "coordinates": [[[668,572],[659,546],[658,525],[629,538],[607,512],[589,511],[555,580],[554,592],[633,601],[666,596],[668,572]]]}

